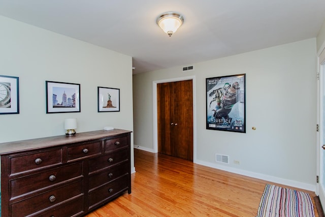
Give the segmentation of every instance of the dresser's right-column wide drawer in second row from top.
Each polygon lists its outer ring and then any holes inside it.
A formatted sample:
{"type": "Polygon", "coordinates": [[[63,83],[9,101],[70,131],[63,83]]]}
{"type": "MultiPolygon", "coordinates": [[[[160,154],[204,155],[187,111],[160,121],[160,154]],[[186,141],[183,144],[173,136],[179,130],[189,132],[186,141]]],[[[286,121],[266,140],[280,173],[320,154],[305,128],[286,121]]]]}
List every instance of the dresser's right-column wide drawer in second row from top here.
{"type": "Polygon", "coordinates": [[[89,160],[89,174],[128,161],[128,149],[107,154],[106,156],[89,160]]]}

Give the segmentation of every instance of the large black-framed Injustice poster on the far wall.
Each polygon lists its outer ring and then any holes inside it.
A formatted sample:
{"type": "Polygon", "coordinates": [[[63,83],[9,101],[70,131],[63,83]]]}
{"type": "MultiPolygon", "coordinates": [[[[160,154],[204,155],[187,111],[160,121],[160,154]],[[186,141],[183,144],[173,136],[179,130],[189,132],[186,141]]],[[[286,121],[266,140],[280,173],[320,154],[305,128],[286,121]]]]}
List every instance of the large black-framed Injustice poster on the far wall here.
{"type": "Polygon", "coordinates": [[[246,74],[206,78],[208,130],[246,133],[246,74]]]}

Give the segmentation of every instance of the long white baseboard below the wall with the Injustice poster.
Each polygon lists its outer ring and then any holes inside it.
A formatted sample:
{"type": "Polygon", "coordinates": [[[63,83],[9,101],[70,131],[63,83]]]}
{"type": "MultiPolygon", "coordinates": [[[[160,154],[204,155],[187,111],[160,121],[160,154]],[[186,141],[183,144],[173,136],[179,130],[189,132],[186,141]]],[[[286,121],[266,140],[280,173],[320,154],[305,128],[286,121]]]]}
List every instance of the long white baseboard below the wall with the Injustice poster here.
{"type": "Polygon", "coordinates": [[[219,169],[219,170],[224,170],[224,171],[227,171],[227,172],[232,172],[232,173],[236,173],[236,174],[240,174],[240,175],[249,176],[249,177],[252,177],[252,178],[258,178],[258,179],[263,179],[263,180],[266,180],[266,181],[271,181],[271,182],[275,182],[275,183],[279,183],[279,184],[288,185],[288,186],[291,186],[291,187],[294,187],[294,188],[305,189],[307,191],[312,191],[312,192],[316,191],[316,185],[313,185],[313,184],[307,184],[307,183],[303,183],[303,182],[299,182],[299,181],[294,181],[294,180],[279,178],[279,177],[275,177],[275,176],[265,175],[265,174],[262,174],[262,173],[250,172],[250,171],[247,171],[247,170],[241,170],[241,169],[236,169],[236,168],[232,168],[232,167],[225,167],[225,166],[222,166],[222,165],[216,165],[216,164],[212,164],[212,163],[205,162],[205,161],[197,160],[196,163],[200,164],[200,165],[203,165],[203,166],[219,169]]]}

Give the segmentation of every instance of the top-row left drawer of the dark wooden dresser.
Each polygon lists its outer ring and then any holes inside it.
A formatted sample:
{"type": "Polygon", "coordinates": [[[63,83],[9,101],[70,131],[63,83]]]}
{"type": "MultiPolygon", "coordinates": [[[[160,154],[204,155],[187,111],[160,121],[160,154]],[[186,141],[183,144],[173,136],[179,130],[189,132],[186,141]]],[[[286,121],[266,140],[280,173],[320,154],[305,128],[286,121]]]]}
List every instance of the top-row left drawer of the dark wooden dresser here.
{"type": "Polygon", "coordinates": [[[11,175],[61,163],[61,149],[46,150],[44,152],[9,157],[11,175]]]}

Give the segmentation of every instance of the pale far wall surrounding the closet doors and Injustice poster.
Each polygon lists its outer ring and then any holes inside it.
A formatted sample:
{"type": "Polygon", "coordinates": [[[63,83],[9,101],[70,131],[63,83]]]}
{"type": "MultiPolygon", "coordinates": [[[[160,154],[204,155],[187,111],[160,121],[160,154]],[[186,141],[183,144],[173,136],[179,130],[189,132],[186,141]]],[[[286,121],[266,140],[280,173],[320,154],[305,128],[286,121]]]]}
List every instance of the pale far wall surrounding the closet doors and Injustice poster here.
{"type": "Polygon", "coordinates": [[[195,76],[196,163],[315,190],[316,39],[193,65],[187,73],[180,66],[133,76],[135,147],[153,150],[152,81],[195,76]],[[205,79],[241,73],[246,133],[206,130],[205,79]],[[216,163],[215,153],[230,164],[216,163]]]}

